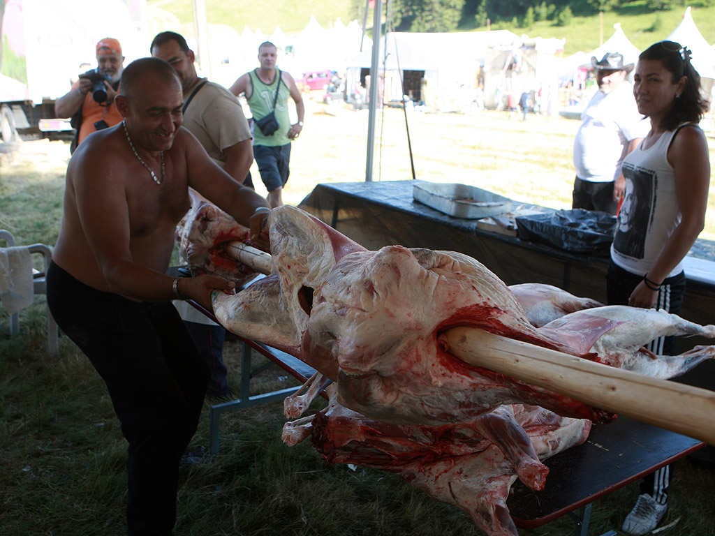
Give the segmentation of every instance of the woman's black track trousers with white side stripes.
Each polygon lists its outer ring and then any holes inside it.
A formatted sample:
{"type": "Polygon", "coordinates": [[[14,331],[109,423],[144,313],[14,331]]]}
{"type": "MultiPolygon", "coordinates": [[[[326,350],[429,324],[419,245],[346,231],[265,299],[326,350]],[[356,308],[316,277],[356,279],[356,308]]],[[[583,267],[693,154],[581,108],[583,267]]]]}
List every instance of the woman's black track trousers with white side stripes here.
{"type": "MultiPolygon", "coordinates": [[[[643,276],[632,274],[611,261],[606,274],[606,294],[608,305],[628,305],[633,289],[643,280],[643,276]]],[[[685,274],[681,272],[673,277],[664,279],[656,299],[656,309],[666,309],[667,312],[678,314],[683,305],[685,296],[685,274]]],[[[659,337],[646,348],[660,355],[673,355],[675,350],[675,337],[659,337]]],[[[673,473],[672,467],[666,465],[656,472],[641,480],[641,494],[651,495],[661,505],[668,502],[668,487],[673,473]]]]}

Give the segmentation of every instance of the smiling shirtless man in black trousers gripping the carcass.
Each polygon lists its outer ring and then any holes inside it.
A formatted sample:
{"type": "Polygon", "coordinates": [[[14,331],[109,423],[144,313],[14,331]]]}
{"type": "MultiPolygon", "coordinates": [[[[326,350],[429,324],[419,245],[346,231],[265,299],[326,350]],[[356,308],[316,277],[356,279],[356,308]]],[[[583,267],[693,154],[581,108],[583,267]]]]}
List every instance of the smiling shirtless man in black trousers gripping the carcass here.
{"type": "Polygon", "coordinates": [[[107,384],[129,442],[129,535],[170,535],[179,460],[196,431],[208,369],[170,300],[208,310],[232,282],[166,274],[192,187],[267,248],[265,201],[222,171],[182,128],[182,86],[155,58],[124,69],[124,121],[69,162],[64,215],[47,274],[54,318],[107,384]]]}

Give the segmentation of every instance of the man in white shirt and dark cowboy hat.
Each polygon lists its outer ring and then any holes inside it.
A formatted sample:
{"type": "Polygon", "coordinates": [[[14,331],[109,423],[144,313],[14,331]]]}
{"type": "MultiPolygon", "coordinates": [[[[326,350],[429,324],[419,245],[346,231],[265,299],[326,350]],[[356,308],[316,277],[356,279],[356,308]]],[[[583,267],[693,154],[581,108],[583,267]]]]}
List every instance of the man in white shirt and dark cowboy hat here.
{"type": "Polygon", "coordinates": [[[598,91],[581,114],[581,126],[573,142],[573,182],[571,208],[616,214],[625,183],[621,164],[649,131],[650,125],[638,113],[633,86],[626,79],[633,64],[623,65],[623,56],[609,52],[597,61],[598,91]]]}

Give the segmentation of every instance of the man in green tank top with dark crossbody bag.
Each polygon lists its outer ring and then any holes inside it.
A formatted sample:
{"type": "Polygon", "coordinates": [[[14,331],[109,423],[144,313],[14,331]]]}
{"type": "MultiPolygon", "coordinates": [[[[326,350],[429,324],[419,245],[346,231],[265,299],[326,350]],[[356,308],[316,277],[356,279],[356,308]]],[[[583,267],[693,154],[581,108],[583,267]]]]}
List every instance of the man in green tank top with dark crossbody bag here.
{"type": "Polygon", "coordinates": [[[290,142],[300,135],[305,117],[300,90],[290,74],[276,68],[276,56],[275,44],[270,41],[262,43],[258,47],[260,67],[243,74],[230,87],[235,96],[246,96],[251,109],[254,126],[253,157],[268,191],[267,200],[271,207],[280,207],[283,204],[283,187],[290,174],[290,142]],[[288,114],[289,96],[295,102],[298,119],[295,124],[291,124],[288,114]],[[266,135],[255,121],[263,119],[271,112],[275,113],[278,129],[266,135]]]}

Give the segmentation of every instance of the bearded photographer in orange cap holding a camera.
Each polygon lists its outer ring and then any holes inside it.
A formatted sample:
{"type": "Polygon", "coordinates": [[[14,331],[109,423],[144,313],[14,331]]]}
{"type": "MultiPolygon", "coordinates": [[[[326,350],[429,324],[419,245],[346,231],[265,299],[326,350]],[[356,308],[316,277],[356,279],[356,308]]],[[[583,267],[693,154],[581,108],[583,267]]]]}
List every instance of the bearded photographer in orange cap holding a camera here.
{"type": "Polygon", "coordinates": [[[58,117],[71,117],[74,152],[82,140],[97,130],[106,129],[122,121],[114,106],[114,96],[119,91],[119,78],[124,69],[122,45],[117,39],[105,37],[97,43],[97,69],[79,75],[72,89],[54,104],[58,117]]]}

